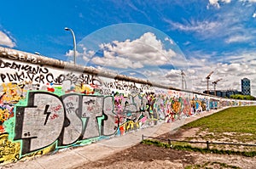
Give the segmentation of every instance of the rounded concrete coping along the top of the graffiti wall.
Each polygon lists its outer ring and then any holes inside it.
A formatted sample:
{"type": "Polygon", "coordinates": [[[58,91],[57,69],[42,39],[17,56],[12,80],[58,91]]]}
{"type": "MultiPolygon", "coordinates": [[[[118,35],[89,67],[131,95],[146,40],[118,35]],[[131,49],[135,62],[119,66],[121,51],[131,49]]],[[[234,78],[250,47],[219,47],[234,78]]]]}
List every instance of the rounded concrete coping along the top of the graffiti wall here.
{"type": "MultiPolygon", "coordinates": [[[[119,74],[115,74],[115,73],[108,72],[105,70],[97,70],[96,68],[93,68],[93,67],[88,67],[88,66],[83,66],[83,65],[74,65],[73,63],[69,63],[69,62],[66,62],[66,61],[63,61],[60,59],[52,59],[52,58],[49,58],[49,57],[46,57],[43,55],[31,54],[31,53],[15,50],[12,48],[0,47],[0,58],[26,62],[26,63],[30,63],[33,65],[47,65],[47,66],[53,67],[55,69],[73,70],[76,72],[83,72],[83,73],[88,73],[88,74],[92,74],[92,75],[96,75],[96,76],[113,78],[113,79],[119,80],[119,81],[137,82],[137,83],[145,84],[145,85],[148,85],[151,87],[160,87],[160,88],[164,88],[164,89],[168,89],[168,90],[176,90],[176,91],[185,92],[185,93],[201,94],[201,95],[205,95],[208,97],[212,97],[212,95],[209,95],[206,93],[199,93],[199,92],[195,92],[195,91],[183,90],[180,88],[161,85],[156,82],[150,82],[148,80],[139,79],[136,77],[119,75],[119,74]]],[[[216,96],[214,96],[214,97],[219,98],[216,96]]]]}

